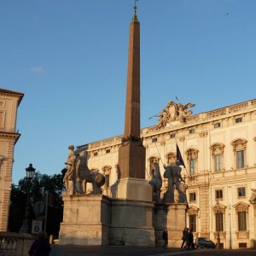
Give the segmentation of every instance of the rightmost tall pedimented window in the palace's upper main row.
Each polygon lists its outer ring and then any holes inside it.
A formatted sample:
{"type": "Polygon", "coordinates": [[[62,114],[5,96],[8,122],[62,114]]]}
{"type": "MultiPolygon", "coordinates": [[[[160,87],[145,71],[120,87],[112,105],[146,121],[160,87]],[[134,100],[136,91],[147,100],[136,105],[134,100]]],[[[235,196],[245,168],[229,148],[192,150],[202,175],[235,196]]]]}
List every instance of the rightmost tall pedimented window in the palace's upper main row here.
{"type": "Polygon", "coordinates": [[[246,166],[247,140],[239,138],[233,141],[231,145],[234,152],[234,166],[236,169],[244,168],[246,166]]]}

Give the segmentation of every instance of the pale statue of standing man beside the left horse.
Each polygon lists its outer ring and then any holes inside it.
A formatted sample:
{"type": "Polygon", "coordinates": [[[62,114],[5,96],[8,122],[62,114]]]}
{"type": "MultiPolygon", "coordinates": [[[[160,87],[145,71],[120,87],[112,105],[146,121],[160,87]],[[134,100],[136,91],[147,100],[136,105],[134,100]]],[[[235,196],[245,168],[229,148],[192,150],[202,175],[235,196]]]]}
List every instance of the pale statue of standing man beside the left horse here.
{"type": "Polygon", "coordinates": [[[65,165],[67,165],[67,172],[65,173],[63,182],[65,183],[67,193],[69,193],[70,195],[73,195],[76,155],[74,154],[74,151],[73,151],[74,150],[73,145],[69,145],[68,150],[69,150],[69,154],[67,156],[67,162],[65,162],[65,165]]]}

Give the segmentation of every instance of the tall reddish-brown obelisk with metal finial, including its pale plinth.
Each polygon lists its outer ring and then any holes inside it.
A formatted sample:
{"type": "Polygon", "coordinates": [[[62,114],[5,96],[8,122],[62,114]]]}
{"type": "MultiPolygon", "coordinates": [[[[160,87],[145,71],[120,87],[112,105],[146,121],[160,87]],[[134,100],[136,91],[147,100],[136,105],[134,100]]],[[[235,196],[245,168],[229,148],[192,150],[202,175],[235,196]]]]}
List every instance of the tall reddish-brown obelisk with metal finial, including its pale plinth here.
{"type": "Polygon", "coordinates": [[[148,192],[142,191],[150,188],[145,183],[146,149],[140,137],[140,22],[137,19],[136,4],[130,24],[125,104],[125,134],[119,148],[118,197],[151,201],[150,192],[148,197],[148,192]]]}

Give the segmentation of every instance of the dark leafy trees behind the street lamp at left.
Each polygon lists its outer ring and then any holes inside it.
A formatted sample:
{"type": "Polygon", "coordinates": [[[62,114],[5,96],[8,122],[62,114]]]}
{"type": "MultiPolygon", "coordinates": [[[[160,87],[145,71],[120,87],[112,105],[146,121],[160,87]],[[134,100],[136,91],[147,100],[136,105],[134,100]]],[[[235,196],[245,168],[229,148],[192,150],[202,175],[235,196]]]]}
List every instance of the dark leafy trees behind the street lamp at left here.
{"type": "Polygon", "coordinates": [[[9,231],[18,232],[20,230],[26,207],[26,193],[28,191],[28,186],[30,185],[32,206],[37,201],[43,201],[45,203],[46,194],[48,193],[46,231],[49,234],[58,236],[63,216],[61,194],[64,191],[64,172],[65,169],[61,171],[61,174],[54,174],[52,176],[36,172],[31,184],[29,184],[26,177],[20,179],[18,185],[12,184],[11,203],[9,208],[9,231]]]}

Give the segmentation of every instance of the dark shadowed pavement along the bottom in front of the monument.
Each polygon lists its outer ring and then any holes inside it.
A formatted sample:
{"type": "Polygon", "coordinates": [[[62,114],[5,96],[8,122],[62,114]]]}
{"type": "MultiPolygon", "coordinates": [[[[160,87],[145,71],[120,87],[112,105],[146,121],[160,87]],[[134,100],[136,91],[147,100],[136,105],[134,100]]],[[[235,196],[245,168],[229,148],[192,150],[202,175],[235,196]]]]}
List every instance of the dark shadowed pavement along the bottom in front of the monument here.
{"type": "Polygon", "coordinates": [[[256,249],[217,250],[196,249],[183,251],[163,247],[61,246],[53,245],[50,256],[255,256],[256,249]]]}

